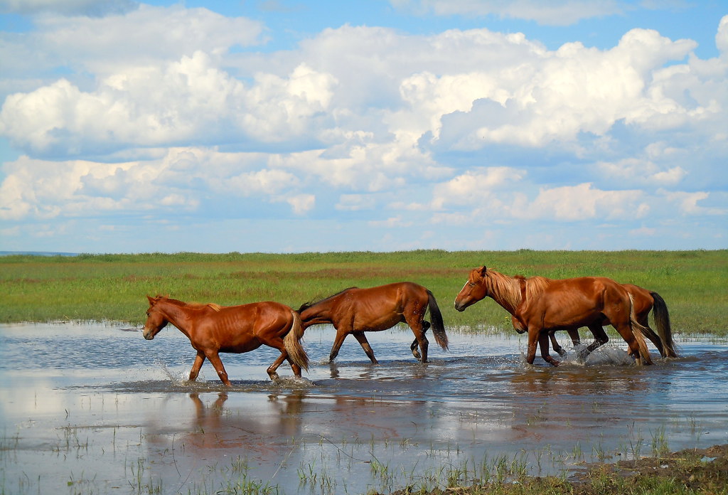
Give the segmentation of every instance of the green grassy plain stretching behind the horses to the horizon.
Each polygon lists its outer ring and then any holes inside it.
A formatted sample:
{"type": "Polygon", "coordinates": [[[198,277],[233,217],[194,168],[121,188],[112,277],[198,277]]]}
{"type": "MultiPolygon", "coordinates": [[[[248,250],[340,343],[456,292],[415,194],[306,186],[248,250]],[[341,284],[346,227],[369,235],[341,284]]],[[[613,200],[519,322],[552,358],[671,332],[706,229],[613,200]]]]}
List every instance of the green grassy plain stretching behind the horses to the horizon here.
{"type": "Polygon", "coordinates": [[[298,307],[347,287],[410,280],[435,293],[446,325],[510,328],[505,311],[490,299],[463,313],[452,307],[470,269],[483,264],[505,274],[600,275],[635,283],[665,298],[676,331],[728,334],[728,250],[4,256],[0,322],[138,324],[146,294],[219,304],[272,300],[298,307]]]}

